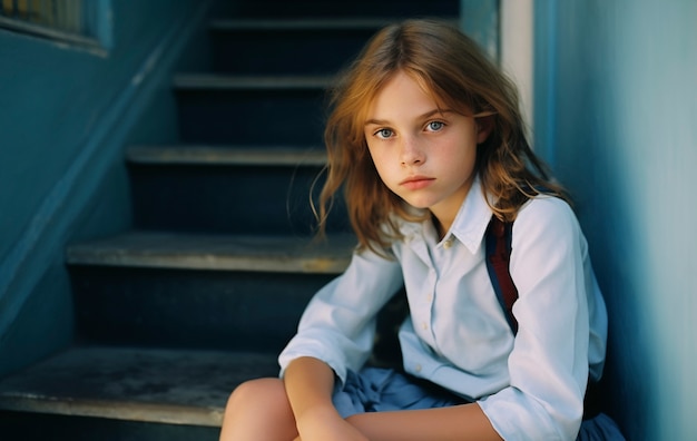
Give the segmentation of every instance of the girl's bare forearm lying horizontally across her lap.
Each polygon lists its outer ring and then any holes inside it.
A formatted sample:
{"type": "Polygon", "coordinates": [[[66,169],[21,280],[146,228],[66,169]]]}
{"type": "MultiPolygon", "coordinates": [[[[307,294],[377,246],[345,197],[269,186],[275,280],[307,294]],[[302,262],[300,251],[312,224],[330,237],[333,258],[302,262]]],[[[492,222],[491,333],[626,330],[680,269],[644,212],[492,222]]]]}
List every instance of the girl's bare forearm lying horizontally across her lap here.
{"type": "Polygon", "coordinates": [[[475,403],[428,410],[362,413],[348,418],[371,441],[501,440],[475,403]]]}

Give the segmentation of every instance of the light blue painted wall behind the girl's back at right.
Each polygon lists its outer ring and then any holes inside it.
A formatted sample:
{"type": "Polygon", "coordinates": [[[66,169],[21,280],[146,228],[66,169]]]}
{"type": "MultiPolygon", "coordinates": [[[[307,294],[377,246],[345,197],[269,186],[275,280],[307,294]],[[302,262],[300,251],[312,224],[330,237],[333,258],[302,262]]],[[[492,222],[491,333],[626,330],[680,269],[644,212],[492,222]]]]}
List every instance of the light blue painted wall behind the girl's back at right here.
{"type": "Polygon", "coordinates": [[[697,2],[536,3],[536,144],[576,196],[630,440],[697,439],[697,2]]]}

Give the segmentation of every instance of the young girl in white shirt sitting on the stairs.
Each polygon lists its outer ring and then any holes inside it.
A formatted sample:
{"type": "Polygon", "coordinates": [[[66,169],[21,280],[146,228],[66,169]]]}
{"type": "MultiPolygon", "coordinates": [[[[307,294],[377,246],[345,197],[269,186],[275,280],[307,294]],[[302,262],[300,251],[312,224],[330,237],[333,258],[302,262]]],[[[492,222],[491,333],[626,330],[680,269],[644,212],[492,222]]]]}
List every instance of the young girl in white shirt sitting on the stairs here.
{"type": "Polygon", "coordinates": [[[475,43],[434,21],[383,29],[334,90],[325,141],[321,224],[345,190],[359,247],[308,304],[281,379],[234,391],[220,439],[621,439],[602,414],[579,434],[605,304],[516,89],[475,43]],[[492,216],[514,220],[517,332],[484,262],[492,216]],[[366,367],[376,314],[401,286],[403,370],[366,367]]]}

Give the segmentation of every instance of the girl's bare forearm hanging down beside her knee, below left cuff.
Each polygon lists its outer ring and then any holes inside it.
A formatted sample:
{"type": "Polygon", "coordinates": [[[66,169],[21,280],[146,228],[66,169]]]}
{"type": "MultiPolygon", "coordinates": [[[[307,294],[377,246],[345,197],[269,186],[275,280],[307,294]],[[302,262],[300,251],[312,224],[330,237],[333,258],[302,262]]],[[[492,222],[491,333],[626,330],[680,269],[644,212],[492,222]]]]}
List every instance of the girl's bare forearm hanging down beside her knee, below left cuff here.
{"type": "Polygon", "coordinates": [[[327,364],[308,356],[296,359],[285,371],[284,384],[303,441],[367,441],[336,412],[334,371],[327,364]]]}

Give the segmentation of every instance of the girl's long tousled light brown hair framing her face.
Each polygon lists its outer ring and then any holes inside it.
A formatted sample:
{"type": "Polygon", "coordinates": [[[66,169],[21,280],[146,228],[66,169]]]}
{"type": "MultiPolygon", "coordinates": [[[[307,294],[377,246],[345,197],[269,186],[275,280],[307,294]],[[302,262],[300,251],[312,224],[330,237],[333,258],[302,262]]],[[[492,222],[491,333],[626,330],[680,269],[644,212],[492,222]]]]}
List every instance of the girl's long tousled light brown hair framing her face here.
{"type": "Polygon", "coordinates": [[[493,129],[478,147],[475,168],[482,190],[497,200],[491,206],[495,216],[513,220],[521,205],[541,188],[566,198],[526,139],[512,81],[458,29],[439,21],[408,20],[377,32],[331,90],[324,133],[326,180],[317,209],[321,234],[342,188],[360,247],[382,252],[400,238],[395,215],[424,218],[383,184],[364,136],[369,107],[397,71],[412,76],[449,108],[493,114],[489,117],[493,129]]]}

